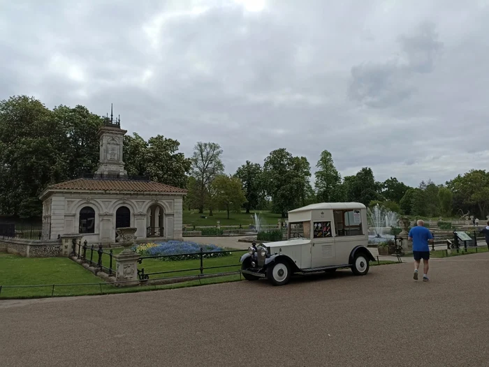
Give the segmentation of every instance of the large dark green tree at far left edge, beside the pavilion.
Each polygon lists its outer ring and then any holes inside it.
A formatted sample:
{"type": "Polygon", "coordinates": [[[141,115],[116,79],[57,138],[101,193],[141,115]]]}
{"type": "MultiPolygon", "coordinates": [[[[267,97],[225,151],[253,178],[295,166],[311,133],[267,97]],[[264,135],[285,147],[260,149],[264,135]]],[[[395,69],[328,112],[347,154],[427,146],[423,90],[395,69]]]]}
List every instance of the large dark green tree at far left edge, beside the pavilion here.
{"type": "Polygon", "coordinates": [[[35,98],[0,102],[0,212],[39,217],[38,195],[66,177],[66,133],[52,111],[35,98]]]}

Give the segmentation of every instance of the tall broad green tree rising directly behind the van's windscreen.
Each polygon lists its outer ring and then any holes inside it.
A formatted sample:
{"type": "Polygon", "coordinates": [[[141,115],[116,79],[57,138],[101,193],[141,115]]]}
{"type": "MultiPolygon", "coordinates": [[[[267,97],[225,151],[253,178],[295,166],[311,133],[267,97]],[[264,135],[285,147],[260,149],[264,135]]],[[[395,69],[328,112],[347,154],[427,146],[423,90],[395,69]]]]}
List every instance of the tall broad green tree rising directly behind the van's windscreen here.
{"type": "Polygon", "coordinates": [[[272,197],[272,211],[285,218],[287,211],[302,206],[310,176],[307,158],[293,157],[284,148],[272,151],[263,165],[263,182],[272,197]]]}

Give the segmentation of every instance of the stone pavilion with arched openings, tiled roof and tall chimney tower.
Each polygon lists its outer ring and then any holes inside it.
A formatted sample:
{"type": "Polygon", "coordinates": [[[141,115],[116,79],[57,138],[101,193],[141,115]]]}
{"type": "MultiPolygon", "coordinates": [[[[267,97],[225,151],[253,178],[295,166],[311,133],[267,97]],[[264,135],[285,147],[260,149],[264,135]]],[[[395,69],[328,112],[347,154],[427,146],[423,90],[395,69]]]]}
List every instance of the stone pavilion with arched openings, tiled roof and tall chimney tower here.
{"type": "Polygon", "coordinates": [[[187,190],[145,177],[129,177],[122,159],[126,132],[120,128],[120,118],[114,120],[111,112],[98,131],[98,170],[43,191],[45,239],[82,234],[82,241],[89,244],[111,244],[119,241],[117,229],[122,227],[137,228],[136,241],[182,239],[187,190]]]}

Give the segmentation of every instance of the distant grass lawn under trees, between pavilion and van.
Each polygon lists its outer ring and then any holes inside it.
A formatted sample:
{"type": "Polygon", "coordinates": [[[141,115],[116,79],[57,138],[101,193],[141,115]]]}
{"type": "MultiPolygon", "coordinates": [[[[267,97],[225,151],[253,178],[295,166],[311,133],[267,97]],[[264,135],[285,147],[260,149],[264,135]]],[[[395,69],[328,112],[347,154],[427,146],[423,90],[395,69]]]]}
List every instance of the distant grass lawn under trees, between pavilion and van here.
{"type": "MultiPolygon", "coordinates": [[[[209,211],[204,211],[204,214],[198,214],[198,209],[191,211],[184,210],[183,223],[184,225],[198,226],[215,226],[217,220],[220,220],[221,225],[242,225],[248,227],[253,224],[251,216],[255,214],[255,211],[251,211],[250,214],[246,214],[245,211],[241,213],[230,213],[228,219],[228,213],[226,211],[213,211],[213,216],[209,216],[209,211]],[[207,218],[200,218],[200,216],[206,216],[207,218]]],[[[260,214],[263,220],[263,224],[277,225],[278,220],[281,218],[280,214],[272,214],[269,211],[256,211],[256,214],[260,214]]]]}

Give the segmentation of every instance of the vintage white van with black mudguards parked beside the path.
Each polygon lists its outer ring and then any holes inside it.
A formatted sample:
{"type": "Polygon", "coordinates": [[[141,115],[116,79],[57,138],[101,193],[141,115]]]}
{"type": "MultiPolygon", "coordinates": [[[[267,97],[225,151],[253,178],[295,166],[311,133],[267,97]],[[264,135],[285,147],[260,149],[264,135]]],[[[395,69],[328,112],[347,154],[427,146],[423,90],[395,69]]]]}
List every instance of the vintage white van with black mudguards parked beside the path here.
{"type": "Polygon", "coordinates": [[[286,241],[249,247],[242,255],[247,280],[267,278],[274,285],[289,283],[293,273],[351,268],[368,273],[375,261],[367,249],[367,208],[358,202],[323,202],[289,211],[286,241]]]}

